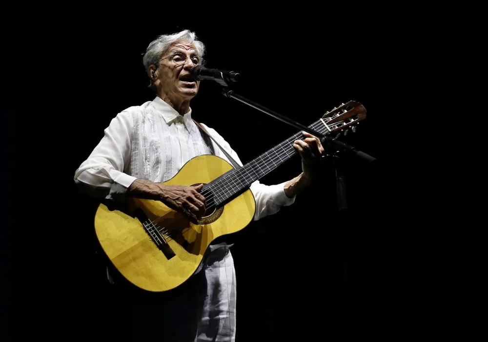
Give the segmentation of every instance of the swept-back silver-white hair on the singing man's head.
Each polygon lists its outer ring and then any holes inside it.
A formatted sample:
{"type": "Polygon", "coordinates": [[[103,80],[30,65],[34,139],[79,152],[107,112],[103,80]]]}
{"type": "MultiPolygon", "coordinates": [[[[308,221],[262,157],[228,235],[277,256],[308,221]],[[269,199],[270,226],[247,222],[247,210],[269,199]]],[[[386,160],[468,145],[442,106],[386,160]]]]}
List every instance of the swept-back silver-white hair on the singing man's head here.
{"type": "Polygon", "coordinates": [[[152,83],[150,75],[151,70],[149,69],[149,66],[151,64],[159,66],[159,62],[161,60],[161,57],[163,56],[163,53],[166,52],[171,43],[174,43],[176,41],[183,41],[185,43],[195,45],[198,55],[200,57],[203,57],[203,54],[205,53],[205,45],[197,40],[195,32],[183,30],[174,34],[158,36],[158,38],[149,43],[146,48],[146,52],[144,53],[144,57],[142,57],[142,63],[144,64],[147,76],[149,76],[149,79],[151,80],[151,84],[149,85],[149,87],[153,90],[156,89],[154,87],[154,84],[152,83]]]}

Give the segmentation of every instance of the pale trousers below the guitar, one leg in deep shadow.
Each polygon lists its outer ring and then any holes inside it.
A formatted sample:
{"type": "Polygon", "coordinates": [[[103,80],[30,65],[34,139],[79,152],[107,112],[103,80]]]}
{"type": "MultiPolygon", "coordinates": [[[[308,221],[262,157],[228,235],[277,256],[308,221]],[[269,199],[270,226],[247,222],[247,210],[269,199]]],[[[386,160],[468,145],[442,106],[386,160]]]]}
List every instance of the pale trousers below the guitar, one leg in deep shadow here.
{"type": "Polygon", "coordinates": [[[209,253],[188,283],[164,301],[134,300],[132,341],[235,341],[236,276],[229,248],[209,253]]]}

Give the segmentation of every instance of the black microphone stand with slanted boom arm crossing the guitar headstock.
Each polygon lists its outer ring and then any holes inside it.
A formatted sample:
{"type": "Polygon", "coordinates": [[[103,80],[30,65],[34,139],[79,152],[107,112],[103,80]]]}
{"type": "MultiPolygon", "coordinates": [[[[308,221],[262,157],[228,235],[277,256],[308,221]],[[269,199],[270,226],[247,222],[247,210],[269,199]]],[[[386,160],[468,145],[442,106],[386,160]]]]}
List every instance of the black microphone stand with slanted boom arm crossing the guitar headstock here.
{"type": "MultiPolygon", "coordinates": [[[[224,80],[223,80],[224,81],[224,80]]],[[[290,118],[287,118],[281,114],[278,114],[275,111],[272,111],[266,107],[263,107],[256,102],[249,101],[243,96],[236,94],[233,90],[230,90],[228,88],[228,85],[226,82],[219,82],[223,89],[223,94],[224,96],[228,98],[232,98],[235,100],[238,100],[250,107],[256,108],[262,112],[264,112],[267,115],[270,115],[274,117],[275,119],[281,120],[287,125],[290,125],[295,128],[299,128],[301,130],[304,130],[305,132],[308,132],[317,138],[320,139],[321,143],[323,145],[328,145],[332,150],[335,152],[333,154],[325,154],[321,157],[321,159],[325,159],[327,157],[332,157],[333,161],[333,166],[335,169],[335,176],[336,176],[336,191],[337,191],[337,205],[339,209],[339,222],[340,222],[340,228],[341,228],[341,239],[342,239],[342,244],[343,244],[343,253],[344,253],[344,291],[345,291],[345,299],[346,299],[346,305],[350,306],[352,303],[351,299],[351,286],[350,286],[350,274],[349,274],[349,269],[350,269],[350,248],[349,244],[347,241],[347,199],[346,199],[346,182],[345,182],[345,174],[343,170],[343,163],[342,163],[342,155],[345,154],[351,154],[356,157],[359,157],[361,159],[364,159],[366,161],[374,161],[376,158],[362,152],[354,149],[352,146],[346,145],[343,142],[338,141],[336,138],[324,135],[322,133],[317,132],[316,130],[306,127],[294,120],[291,120],[290,118]]]]}

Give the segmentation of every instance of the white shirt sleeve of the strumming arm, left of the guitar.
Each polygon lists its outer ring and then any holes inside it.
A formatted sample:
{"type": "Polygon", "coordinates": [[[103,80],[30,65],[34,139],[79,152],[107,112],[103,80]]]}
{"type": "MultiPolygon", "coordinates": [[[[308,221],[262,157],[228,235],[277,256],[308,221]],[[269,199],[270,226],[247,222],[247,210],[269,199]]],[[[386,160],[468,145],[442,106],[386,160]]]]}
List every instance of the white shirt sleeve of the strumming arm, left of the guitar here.
{"type": "Polygon", "coordinates": [[[132,125],[129,112],[123,111],[105,128],[100,143],[75,171],[74,181],[81,192],[117,200],[136,179],[124,173],[130,162],[132,125]]]}

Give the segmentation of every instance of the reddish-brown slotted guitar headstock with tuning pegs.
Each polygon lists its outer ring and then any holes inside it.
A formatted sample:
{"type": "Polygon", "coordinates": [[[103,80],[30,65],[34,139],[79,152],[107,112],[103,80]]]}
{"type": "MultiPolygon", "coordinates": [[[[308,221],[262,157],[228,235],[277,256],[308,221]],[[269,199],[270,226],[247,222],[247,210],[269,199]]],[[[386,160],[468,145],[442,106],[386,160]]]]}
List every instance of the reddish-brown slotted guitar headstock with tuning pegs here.
{"type": "Polygon", "coordinates": [[[355,132],[359,122],[364,119],[366,119],[366,108],[356,101],[343,103],[322,116],[330,132],[337,132],[337,137],[341,133],[346,135],[349,129],[355,132]]]}

